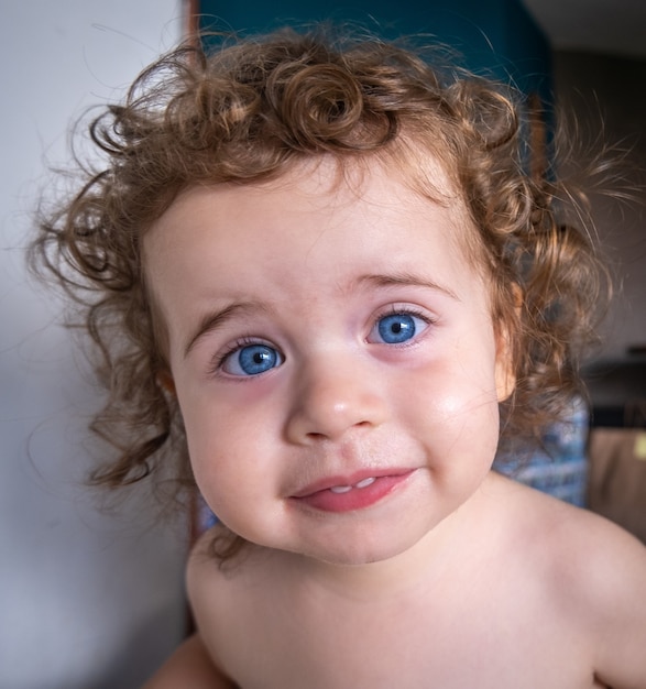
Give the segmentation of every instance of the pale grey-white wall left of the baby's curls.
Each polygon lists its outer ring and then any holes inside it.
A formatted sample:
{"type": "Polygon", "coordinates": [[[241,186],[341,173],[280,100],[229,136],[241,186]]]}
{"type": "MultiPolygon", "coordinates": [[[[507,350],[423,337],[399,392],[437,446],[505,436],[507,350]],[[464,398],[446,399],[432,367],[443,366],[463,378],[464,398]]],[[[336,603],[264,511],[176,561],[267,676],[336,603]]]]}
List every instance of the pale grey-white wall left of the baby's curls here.
{"type": "Polygon", "coordinates": [[[179,0],[0,4],[2,689],[138,687],[183,632],[182,529],[153,526],[138,497],[100,514],[80,485],[98,392],[22,252],[70,117],[176,43],[180,14],[179,0]]]}

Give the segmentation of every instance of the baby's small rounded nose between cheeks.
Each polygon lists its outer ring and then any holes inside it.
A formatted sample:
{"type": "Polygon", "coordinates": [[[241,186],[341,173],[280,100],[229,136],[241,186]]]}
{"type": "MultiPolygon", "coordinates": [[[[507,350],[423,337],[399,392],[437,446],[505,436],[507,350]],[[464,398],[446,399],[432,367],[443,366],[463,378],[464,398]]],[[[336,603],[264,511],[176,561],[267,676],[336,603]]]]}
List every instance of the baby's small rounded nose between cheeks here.
{"type": "Polygon", "coordinates": [[[295,444],[340,440],[351,430],[380,426],[386,412],[374,372],[335,357],[319,359],[299,371],[286,433],[295,444]]]}

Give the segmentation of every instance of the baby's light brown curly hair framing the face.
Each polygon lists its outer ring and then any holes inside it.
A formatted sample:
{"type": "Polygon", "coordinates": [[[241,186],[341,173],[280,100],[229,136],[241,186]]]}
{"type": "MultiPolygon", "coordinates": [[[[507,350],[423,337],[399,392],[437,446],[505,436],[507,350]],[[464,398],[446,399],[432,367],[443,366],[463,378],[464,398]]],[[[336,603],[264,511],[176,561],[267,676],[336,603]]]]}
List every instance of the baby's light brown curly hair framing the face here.
{"type": "Polygon", "coordinates": [[[523,107],[503,85],[419,53],[320,30],[223,39],[209,54],[187,44],[143,72],[91,123],[105,167],[42,219],[32,247],[98,346],[109,398],[92,428],[118,455],[94,480],[132,483],[171,455],[175,478],[191,483],[143,275],[146,230],[193,185],[266,181],[311,156],[379,156],[429,196],[420,155],[440,162],[471,215],[470,256],[489,277],[494,322],[510,335],[516,386],[502,433],[536,435],[556,418],[579,385],[602,270],[589,231],[569,220],[581,217],[571,196],[528,172],[523,107]]]}

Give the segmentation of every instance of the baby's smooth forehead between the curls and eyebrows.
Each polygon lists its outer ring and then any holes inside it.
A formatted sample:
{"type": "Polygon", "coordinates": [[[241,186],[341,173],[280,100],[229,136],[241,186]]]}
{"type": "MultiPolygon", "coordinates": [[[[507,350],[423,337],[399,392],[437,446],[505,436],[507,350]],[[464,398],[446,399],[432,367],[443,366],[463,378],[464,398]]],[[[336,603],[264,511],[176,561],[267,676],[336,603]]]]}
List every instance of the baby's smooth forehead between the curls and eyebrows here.
{"type": "Polygon", "coordinates": [[[437,163],[424,174],[428,194],[379,161],[319,158],[262,184],[187,189],[144,237],[153,308],[177,320],[191,299],[287,302],[303,284],[324,298],[373,273],[472,289],[468,212],[437,163]]]}

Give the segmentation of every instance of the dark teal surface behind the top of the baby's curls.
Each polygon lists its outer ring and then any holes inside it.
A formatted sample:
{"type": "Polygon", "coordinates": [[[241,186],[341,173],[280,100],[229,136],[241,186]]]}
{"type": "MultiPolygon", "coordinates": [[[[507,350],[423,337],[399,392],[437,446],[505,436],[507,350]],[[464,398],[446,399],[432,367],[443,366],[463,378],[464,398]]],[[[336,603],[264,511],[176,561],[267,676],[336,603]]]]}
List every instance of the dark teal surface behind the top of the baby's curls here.
{"type": "Polygon", "coordinates": [[[202,29],[270,31],[285,24],[331,21],[358,23],[386,39],[416,36],[450,45],[464,66],[513,80],[524,90],[545,94],[549,83],[549,46],[521,0],[276,0],[244,3],[198,0],[202,29]]]}

